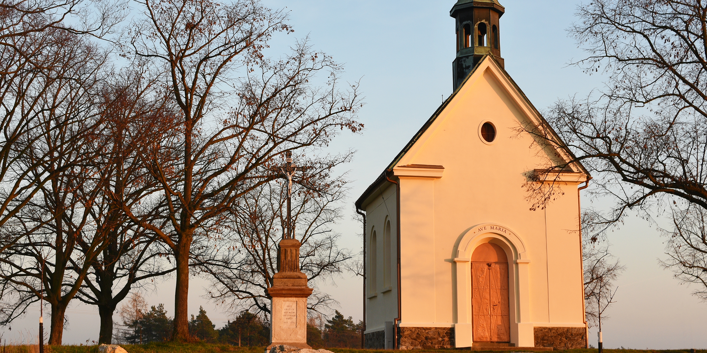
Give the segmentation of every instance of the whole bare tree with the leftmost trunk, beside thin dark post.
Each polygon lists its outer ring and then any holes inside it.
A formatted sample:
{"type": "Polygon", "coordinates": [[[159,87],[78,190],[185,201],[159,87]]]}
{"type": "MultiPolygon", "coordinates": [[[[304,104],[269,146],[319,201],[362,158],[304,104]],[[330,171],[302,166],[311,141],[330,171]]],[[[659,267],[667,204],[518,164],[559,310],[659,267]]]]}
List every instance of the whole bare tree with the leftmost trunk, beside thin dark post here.
{"type": "Polygon", "coordinates": [[[22,146],[15,168],[26,171],[28,184],[50,177],[6,222],[2,231],[16,241],[0,253],[0,279],[12,290],[3,297],[5,322],[42,297],[52,311],[51,345],[61,344],[66,306],[104,246],[88,217],[100,184],[88,167],[95,150],[86,141],[100,126],[95,88],[104,78],[106,54],[80,37],[59,35],[66,45],[44,54],[55,66],[42,76],[40,90],[25,95],[38,127],[15,143],[22,146]],[[81,242],[85,257],[75,256],[81,242]]]}

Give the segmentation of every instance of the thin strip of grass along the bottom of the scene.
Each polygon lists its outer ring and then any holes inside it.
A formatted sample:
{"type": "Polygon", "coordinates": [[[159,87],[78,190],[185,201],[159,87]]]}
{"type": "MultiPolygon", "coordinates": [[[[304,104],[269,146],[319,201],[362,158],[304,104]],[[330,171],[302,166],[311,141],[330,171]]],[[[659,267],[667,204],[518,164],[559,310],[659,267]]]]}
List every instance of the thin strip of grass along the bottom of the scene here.
{"type": "MultiPolygon", "coordinates": [[[[237,347],[204,342],[152,342],[146,345],[120,346],[128,353],[262,353],[264,351],[264,347],[237,347]]],[[[37,353],[38,348],[37,345],[8,345],[1,347],[0,353],[37,353]]],[[[334,353],[390,353],[384,349],[329,348],[329,350],[334,353]]],[[[459,353],[460,350],[465,349],[416,349],[414,353],[459,353]]],[[[598,353],[598,349],[565,349],[553,352],[598,353]]],[[[45,346],[45,353],[98,353],[98,345],[45,346]]],[[[604,349],[604,353],[690,353],[690,349],[604,349]]],[[[707,353],[707,349],[696,349],[695,353],[707,353]]]]}

